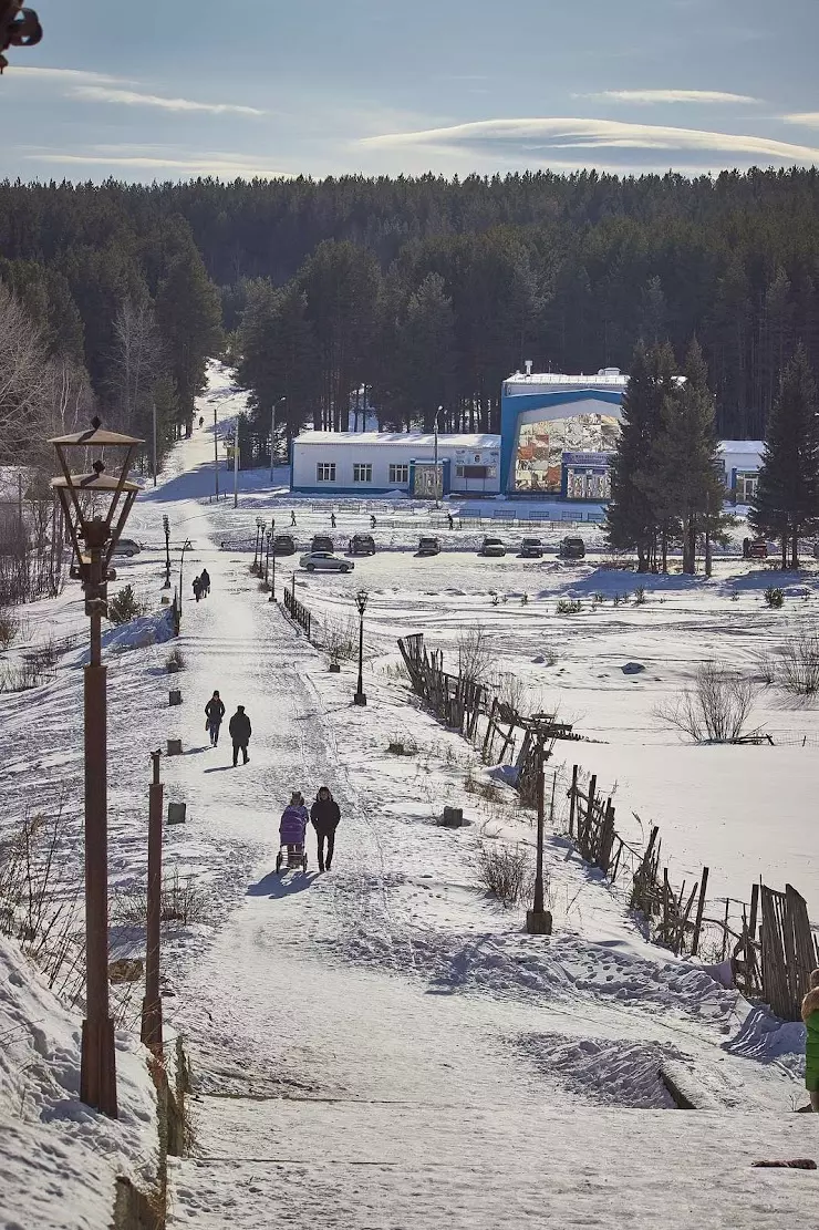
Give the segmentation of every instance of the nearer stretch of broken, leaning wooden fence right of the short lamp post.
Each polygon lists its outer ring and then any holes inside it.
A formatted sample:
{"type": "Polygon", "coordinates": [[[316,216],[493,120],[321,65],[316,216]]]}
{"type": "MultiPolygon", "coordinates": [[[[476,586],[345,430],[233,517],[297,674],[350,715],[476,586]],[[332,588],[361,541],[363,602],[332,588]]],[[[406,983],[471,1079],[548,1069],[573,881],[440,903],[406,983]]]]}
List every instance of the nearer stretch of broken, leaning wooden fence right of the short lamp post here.
{"type": "Polygon", "coordinates": [[[628,900],[643,915],[652,941],[676,956],[697,956],[706,930],[717,937],[716,959],[729,959],[734,985],[749,999],[769,1004],[783,1021],[801,1020],[810,970],[819,964],[804,898],[791,884],[783,893],[754,884],[750,907],[742,904],[742,926],[732,925],[730,900],[722,918],[706,915],[708,867],[694,886],[671,886],[660,859],[660,836],[652,828],[644,850],[630,845],[615,829],[611,798],[598,793],[596,776],[583,788],[572,770],[569,836],[580,856],[612,884],[630,879],[628,900]]]}

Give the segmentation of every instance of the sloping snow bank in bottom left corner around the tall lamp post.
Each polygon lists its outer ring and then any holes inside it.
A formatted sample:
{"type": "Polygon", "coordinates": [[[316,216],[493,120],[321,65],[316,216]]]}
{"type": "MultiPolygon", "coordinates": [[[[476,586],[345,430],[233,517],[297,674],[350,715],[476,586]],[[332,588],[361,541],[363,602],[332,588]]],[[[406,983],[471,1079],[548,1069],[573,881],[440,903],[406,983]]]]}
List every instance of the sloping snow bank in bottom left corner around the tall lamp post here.
{"type": "Polygon", "coordinates": [[[119,1119],[79,1100],[80,1018],[20,950],[0,938],[0,1224],[101,1230],[114,1180],[156,1172],[156,1103],[146,1053],[117,1034],[119,1119]]]}

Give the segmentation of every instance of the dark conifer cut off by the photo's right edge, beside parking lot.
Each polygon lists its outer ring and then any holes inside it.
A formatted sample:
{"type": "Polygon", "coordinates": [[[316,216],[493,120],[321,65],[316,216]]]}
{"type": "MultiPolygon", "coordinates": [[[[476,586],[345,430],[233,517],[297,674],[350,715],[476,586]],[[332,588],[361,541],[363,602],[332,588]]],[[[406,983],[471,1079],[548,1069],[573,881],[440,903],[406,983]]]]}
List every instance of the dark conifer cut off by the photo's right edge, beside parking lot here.
{"type": "Polygon", "coordinates": [[[782,542],[782,567],[798,568],[799,534],[819,518],[819,400],[804,347],[782,378],[767,428],[750,523],[782,542]]]}

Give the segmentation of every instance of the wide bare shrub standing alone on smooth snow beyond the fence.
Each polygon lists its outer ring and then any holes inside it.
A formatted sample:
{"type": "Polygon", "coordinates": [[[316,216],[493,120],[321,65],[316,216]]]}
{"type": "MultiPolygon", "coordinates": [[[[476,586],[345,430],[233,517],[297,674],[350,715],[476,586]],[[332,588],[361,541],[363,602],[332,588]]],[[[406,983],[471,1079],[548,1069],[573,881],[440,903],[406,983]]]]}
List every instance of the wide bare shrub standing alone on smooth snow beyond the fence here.
{"type": "Polygon", "coordinates": [[[706,662],[697,669],[694,688],[659,705],[654,717],[695,743],[735,743],[743,734],[756,733],[745,729],[755,697],[756,685],[751,679],[706,662]]]}

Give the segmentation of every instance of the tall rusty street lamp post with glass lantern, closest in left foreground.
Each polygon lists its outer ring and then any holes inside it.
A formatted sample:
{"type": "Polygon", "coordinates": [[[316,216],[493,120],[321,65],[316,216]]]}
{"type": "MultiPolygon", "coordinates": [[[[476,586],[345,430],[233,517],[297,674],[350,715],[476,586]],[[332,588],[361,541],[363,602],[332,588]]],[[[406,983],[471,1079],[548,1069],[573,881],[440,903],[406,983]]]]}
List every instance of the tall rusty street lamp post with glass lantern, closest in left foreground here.
{"type": "Polygon", "coordinates": [[[52,486],[69,528],[76,558],[76,568],[71,571],[82,581],[85,613],[91,621],[91,652],[84,672],[86,1018],[80,1098],[116,1119],[117,1070],[108,1007],[107,668],[102,664],[102,617],[108,611],[108,581],[116,577],[109,568],[111,556],[139,491],[136,483],[128,481],[128,471],[144,440],[105,432],[95,418],[91,430],[61,435],[50,443],[63,471],[52,486]],[[73,474],[69,449],[124,450],[119,475],[106,474],[101,459],[93,461],[89,474],[73,474]]]}

